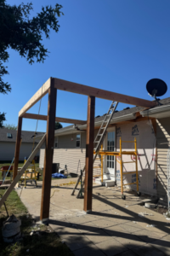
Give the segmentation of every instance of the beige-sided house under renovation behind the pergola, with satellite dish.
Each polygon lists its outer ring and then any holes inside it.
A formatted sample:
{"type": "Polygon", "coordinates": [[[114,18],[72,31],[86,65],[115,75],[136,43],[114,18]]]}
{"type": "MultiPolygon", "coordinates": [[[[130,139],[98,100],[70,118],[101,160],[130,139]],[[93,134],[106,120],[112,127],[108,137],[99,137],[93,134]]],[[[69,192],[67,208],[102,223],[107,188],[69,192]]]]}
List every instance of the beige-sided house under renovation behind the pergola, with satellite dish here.
{"type": "MultiPolygon", "coordinates": [[[[167,203],[167,154],[170,141],[170,97],[160,101],[161,105],[149,110],[142,107],[126,108],[116,111],[105,141],[104,150],[119,151],[120,137],[123,141],[137,139],[139,191],[149,195],[157,195],[167,203]]],[[[99,131],[104,116],[95,118],[95,135],[99,131]]],[[[80,174],[85,165],[87,125],[69,125],[55,131],[54,163],[67,167],[68,172],[80,174]]],[[[40,136],[41,137],[41,136],[40,136]]],[[[38,138],[38,137],[37,137],[38,138]]],[[[133,143],[122,143],[125,150],[133,150],[133,143]]],[[[43,167],[44,147],[40,150],[39,165],[43,167]]],[[[123,156],[123,161],[129,161],[123,156]]],[[[104,165],[105,185],[120,184],[120,165],[115,156],[106,156],[104,165]]],[[[94,162],[94,179],[100,183],[100,160],[94,162]]],[[[123,165],[123,172],[135,171],[133,163],[123,165]]],[[[136,174],[124,176],[124,183],[136,181],[136,174]]],[[[129,185],[135,190],[135,185],[129,185]]]]}

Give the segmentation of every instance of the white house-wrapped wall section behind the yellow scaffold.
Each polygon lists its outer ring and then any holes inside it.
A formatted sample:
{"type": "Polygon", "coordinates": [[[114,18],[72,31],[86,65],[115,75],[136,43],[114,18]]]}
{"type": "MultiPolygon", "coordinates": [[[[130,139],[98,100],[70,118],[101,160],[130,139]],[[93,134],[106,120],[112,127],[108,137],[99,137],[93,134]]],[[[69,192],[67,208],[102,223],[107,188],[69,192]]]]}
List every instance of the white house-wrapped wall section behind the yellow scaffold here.
{"type": "MultiPolygon", "coordinates": [[[[148,121],[132,122],[126,125],[117,125],[116,127],[116,150],[120,150],[120,137],[122,141],[134,141],[137,139],[138,149],[138,171],[139,171],[139,191],[156,195],[156,136],[152,123],[148,121]]],[[[134,143],[122,143],[122,150],[134,150],[134,143]]],[[[123,161],[131,161],[129,155],[122,156],[123,161]]],[[[134,163],[123,165],[123,172],[136,171],[134,163]]],[[[136,182],[136,174],[125,174],[123,183],[136,182]]],[[[121,184],[120,164],[116,162],[116,183],[121,184]]],[[[136,184],[127,186],[136,190],[136,184]]]]}

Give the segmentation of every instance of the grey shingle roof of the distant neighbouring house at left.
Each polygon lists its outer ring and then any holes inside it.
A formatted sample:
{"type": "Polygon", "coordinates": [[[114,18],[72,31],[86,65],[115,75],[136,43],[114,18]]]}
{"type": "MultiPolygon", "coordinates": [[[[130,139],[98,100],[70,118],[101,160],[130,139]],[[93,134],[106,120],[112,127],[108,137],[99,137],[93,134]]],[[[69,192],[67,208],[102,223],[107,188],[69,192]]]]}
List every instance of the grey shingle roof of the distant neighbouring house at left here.
{"type": "MultiPolygon", "coordinates": [[[[35,131],[21,131],[22,143],[33,143],[33,138],[35,131]]],[[[43,135],[44,132],[37,131],[37,136],[43,135]]],[[[7,128],[0,128],[0,142],[15,143],[16,142],[17,131],[10,130],[7,128]],[[7,133],[11,133],[12,137],[8,138],[7,133]]]]}

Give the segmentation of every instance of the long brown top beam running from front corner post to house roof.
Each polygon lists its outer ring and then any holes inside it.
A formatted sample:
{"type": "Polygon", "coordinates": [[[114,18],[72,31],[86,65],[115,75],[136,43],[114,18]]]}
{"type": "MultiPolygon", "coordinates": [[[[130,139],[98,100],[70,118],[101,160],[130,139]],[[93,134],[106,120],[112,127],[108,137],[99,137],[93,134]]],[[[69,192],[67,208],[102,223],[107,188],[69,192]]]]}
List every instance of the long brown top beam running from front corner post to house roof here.
{"type": "Polygon", "coordinates": [[[150,102],[133,96],[126,96],[109,90],[101,90],[87,85],[76,84],[69,81],[54,79],[54,87],[58,90],[70,91],[86,96],[95,96],[100,99],[122,102],[134,106],[152,108],[156,106],[156,102],[150,102]]]}

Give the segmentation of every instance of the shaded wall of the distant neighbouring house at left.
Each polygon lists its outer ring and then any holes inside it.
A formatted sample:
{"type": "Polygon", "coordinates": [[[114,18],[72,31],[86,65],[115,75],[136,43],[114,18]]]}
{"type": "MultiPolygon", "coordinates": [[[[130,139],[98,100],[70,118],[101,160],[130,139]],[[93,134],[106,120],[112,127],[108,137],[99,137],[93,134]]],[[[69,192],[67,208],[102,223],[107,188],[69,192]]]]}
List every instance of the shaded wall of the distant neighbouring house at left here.
{"type": "MultiPolygon", "coordinates": [[[[0,160],[13,160],[14,158],[15,143],[1,142],[0,143],[0,160]]],[[[21,143],[20,159],[24,160],[32,151],[32,143],[21,143]]],[[[37,153],[39,155],[39,152],[37,153]]]]}

